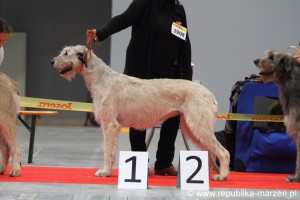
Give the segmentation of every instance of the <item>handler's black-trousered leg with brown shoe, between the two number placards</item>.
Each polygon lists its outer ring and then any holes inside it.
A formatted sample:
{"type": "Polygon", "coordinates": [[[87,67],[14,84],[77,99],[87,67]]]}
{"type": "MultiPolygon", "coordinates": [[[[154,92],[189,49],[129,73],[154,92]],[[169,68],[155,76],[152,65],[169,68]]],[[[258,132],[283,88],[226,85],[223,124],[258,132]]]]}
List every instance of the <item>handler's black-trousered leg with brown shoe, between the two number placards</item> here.
{"type": "Polygon", "coordinates": [[[174,159],[175,140],[178,128],[179,116],[170,118],[162,124],[155,162],[155,173],[157,175],[177,174],[172,162],[174,159]]]}

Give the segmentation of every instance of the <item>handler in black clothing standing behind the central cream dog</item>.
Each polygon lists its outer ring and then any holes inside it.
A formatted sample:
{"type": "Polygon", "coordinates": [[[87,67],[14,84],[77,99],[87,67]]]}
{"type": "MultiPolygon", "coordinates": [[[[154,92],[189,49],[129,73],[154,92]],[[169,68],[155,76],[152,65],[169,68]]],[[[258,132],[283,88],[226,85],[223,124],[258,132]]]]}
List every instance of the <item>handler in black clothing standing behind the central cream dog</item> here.
{"type": "MultiPolygon", "coordinates": [[[[153,79],[192,79],[191,44],[186,15],[178,0],[133,0],[128,9],[113,17],[103,28],[87,30],[90,41],[132,27],[126,52],[124,73],[153,79]]],[[[159,97],[157,97],[159,103],[159,97]]],[[[155,174],[176,176],[173,167],[179,117],[166,120],[161,127],[156,153],[155,174]]],[[[146,131],[130,129],[132,151],[146,151],[146,131]]]]}

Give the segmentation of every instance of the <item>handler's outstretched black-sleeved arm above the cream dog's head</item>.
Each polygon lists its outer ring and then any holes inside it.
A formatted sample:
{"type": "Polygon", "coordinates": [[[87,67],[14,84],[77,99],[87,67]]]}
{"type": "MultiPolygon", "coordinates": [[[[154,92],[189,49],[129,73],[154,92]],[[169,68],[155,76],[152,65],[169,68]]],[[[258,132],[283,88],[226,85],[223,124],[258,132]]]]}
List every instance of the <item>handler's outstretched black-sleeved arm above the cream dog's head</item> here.
{"type": "Polygon", "coordinates": [[[133,0],[125,12],[113,17],[103,28],[97,29],[98,39],[105,40],[110,35],[134,25],[143,13],[144,6],[145,0],[133,0]]]}

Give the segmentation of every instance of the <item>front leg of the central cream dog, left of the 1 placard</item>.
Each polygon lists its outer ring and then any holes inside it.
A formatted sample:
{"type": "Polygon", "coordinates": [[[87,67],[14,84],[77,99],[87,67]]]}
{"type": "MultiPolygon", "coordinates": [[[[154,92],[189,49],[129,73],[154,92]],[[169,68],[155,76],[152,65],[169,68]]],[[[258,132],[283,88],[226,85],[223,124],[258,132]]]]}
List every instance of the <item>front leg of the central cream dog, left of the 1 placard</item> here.
{"type": "Polygon", "coordinates": [[[121,129],[121,125],[113,120],[109,124],[101,123],[104,139],[104,167],[99,169],[95,175],[96,176],[110,176],[112,167],[115,161],[118,134],[121,129]]]}

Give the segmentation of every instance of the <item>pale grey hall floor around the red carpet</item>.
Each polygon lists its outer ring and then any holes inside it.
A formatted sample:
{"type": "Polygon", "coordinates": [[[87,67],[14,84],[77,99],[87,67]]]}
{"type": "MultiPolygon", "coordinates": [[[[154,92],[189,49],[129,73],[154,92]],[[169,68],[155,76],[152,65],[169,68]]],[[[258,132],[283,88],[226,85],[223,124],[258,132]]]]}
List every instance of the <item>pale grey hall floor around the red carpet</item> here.
{"type": "MultiPolygon", "coordinates": [[[[29,133],[18,126],[22,163],[27,164],[29,133]]],[[[155,161],[156,134],[149,148],[150,168],[155,161]]],[[[193,146],[191,146],[194,149],[193,146]]],[[[128,134],[120,134],[119,150],[130,150],[128,134]]],[[[174,165],[185,146],[176,141],[174,165]]],[[[40,166],[102,167],[102,135],[94,127],[37,126],[33,163],[40,166]]],[[[118,166],[116,162],[115,167],[118,166]]],[[[2,175],[0,175],[2,176],[2,175]]],[[[1,177],[0,177],[1,181],[1,177]]],[[[224,184],[225,185],[225,184],[224,184]]],[[[148,187],[147,190],[118,189],[116,185],[0,182],[0,200],[162,200],[162,199],[299,199],[299,191],[270,191],[211,188],[208,192],[183,191],[177,187],[148,187]],[[275,195],[275,196],[274,196],[275,195]]]]}

